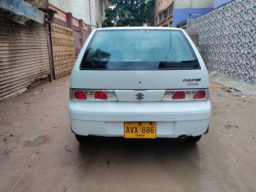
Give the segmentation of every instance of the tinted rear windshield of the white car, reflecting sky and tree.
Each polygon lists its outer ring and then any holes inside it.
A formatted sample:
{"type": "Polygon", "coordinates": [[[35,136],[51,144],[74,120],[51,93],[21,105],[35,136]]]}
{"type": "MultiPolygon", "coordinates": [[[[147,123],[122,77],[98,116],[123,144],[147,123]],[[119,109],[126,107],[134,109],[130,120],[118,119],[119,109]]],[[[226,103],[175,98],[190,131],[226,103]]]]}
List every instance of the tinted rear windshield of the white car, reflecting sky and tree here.
{"type": "Polygon", "coordinates": [[[80,70],[200,69],[180,30],[102,30],[91,39],[80,70]]]}

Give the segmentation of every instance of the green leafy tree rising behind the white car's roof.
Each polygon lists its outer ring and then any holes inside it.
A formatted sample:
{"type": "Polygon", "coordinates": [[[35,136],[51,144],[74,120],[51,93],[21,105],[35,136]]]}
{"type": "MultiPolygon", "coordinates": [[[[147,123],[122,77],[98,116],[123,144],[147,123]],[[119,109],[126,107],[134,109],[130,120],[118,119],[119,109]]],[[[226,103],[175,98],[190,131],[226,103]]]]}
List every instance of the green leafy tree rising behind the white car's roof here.
{"type": "Polygon", "coordinates": [[[143,26],[148,20],[146,0],[109,0],[109,3],[114,7],[105,9],[103,26],[143,26]]]}

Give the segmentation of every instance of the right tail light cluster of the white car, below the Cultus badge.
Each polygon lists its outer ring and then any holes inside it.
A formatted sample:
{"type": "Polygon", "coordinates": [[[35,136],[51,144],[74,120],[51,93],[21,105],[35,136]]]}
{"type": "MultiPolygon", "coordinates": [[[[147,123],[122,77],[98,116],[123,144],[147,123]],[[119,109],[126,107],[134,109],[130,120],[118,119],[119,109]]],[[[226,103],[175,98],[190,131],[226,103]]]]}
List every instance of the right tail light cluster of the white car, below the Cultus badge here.
{"type": "Polygon", "coordinates": [[[166,90],[162,101],[208,100],[209,89],[166,90]]]}

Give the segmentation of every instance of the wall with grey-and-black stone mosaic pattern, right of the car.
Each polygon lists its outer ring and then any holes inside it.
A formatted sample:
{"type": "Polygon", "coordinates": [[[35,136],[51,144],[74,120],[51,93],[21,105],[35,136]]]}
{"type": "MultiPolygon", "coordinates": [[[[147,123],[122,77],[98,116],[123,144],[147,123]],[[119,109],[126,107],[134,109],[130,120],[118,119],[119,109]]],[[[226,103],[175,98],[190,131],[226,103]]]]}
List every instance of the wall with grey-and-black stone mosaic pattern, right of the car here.
{"type": "Polygon", "coordinates": [[[235,0],[191,21],[210,71],[256,84],[256,0],[235,0]]]}

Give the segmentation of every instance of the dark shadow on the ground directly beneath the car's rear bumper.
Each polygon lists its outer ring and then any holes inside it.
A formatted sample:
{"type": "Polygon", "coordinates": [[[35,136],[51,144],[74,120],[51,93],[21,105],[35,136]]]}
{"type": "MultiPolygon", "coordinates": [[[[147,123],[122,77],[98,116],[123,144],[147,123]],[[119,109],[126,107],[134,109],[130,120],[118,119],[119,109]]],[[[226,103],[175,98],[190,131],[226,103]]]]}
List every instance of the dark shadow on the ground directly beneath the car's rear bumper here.
{"type": "MultiPolygon", "coordinates": [[[[124,139],[121,137],[98,137],[93,141],[79,144],[79,156],[85,164],[141,165],[176,164],[200,167],[196,143],[181,143],[177,139],[124,139]],[[96,163],[95,163],[96,164],[96,163]]],[[[121,167],[123,167],[121,166],[121,167]]]]}

